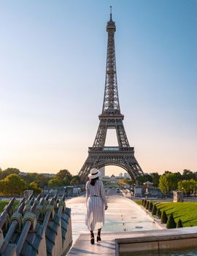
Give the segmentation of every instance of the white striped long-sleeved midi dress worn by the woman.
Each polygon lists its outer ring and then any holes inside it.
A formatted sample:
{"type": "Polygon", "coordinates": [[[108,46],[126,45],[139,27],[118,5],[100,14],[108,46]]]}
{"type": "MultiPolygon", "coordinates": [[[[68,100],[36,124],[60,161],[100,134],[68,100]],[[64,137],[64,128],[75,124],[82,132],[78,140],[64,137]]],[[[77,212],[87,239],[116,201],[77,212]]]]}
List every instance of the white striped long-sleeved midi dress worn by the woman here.
{"type": "Polygon", "coordinates": [[[87,181],[85,189],[87,206],[85,224],[89,230],[99,230],[104,225],[104,207],[107,206],[104,184],[102,181],[96,180],[96,184],[92,186],[90,181],[87,181]]]}

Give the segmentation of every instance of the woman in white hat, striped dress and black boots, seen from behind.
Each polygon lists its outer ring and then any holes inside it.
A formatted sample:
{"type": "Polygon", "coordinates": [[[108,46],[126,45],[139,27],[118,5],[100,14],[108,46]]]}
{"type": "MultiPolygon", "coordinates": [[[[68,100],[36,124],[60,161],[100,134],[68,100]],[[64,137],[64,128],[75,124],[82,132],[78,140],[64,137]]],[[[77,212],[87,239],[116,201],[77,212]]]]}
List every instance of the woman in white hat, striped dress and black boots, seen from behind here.
{"type": "Polygon", "coordinates": [[[96,241],[101,241],[101,228],[104,225],[104,210],[107,210],[107,200],[104,194],[104,184],[99,180],[101,173],[96,168],[90,170],[86,189],[87,215],[85,224],[90,230],[90,243],[94,244],[93,230],[98,230],[96,241]]]}

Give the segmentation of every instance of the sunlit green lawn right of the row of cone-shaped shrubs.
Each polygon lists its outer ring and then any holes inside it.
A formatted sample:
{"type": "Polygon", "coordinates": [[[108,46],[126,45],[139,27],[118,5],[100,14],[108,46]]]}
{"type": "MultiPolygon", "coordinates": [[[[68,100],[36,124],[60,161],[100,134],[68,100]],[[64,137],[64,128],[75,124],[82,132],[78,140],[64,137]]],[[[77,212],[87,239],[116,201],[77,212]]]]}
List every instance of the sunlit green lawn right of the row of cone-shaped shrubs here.
{"type": "MultiPolygon", "coordinates": [[[[138,205],[142,204],[142,200],[135,202],[138,205]]],[[[167,217],[173,214],[176,223],[181,219],[183,227],[197,226],[197,202],[157,203],[157,208],[160,208],[161,213],[163,210],[166,211],[167,217]]]]}

